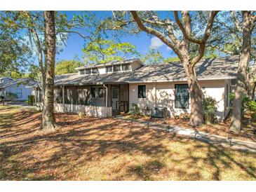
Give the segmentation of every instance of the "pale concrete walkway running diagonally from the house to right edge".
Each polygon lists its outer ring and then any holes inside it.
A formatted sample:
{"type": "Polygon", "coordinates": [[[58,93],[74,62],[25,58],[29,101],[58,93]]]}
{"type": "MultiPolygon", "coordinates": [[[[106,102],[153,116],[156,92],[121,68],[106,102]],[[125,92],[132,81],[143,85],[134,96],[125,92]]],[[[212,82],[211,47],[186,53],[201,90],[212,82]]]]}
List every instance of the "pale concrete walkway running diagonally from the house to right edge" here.
{"type": "Polygon", "coordinates": [[[141,121],[135,120],[133,118],[125,118],[123,116],[116,116],[116,118],[122,119],[124,121],[130,121],[134,123],[140,123],[142,125],[146,125],[149,128],[154,128],[158,130],[167,130],[173,135],[178,135],[181,137],[189,137],[191,139],[196,139],[201,142],[207,142],[209,144],[218,144],[226,147],[230,147],[231,149],[239,149],[242,151],[250,151],[256,153],[256,142],[247,142],[233,138],[222,137],[220,135],[212,135],[206,132],[198,132],[195,130],[190,130],[187,128],[180,128],[171,125],[165,125],[160,123],[152,123],[149,121],[141,121]]]}

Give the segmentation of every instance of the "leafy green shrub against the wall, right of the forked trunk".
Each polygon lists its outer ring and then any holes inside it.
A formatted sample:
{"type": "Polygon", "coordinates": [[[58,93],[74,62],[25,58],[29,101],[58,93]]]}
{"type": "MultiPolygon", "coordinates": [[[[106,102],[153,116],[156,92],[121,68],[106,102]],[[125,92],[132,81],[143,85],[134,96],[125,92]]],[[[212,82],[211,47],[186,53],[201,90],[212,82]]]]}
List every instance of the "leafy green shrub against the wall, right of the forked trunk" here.
{"type": "Polygon", "coordinates": [[[206,97],[203,99],[203,116],[206,123],[213,123],[217,111],[216,104],[217,102],[213,97],[206,97]]]}

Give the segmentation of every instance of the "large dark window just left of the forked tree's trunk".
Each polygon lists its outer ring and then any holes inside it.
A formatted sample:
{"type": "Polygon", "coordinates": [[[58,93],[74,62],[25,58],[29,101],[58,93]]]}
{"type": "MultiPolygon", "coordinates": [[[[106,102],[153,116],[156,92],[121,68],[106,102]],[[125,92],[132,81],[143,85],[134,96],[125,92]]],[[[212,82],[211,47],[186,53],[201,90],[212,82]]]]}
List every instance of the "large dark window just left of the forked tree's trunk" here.
{"type": "Polygon", "coordinates": [[[175,85],[175,108],[189,109],[189,86],[187,84],[175,85]]]}

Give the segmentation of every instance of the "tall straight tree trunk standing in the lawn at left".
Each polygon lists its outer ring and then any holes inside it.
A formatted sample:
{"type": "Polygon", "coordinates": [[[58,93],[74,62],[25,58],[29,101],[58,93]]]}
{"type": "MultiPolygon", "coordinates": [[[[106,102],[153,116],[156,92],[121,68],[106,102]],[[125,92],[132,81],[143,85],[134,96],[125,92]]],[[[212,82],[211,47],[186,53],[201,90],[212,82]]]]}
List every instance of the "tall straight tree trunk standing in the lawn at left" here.
{"type": "Polygon", "coordinates": [[[43,97],[42,128],[54,130],[55,116],[53,114],[53,90],[54,90],[54,67],[55,67],[55,12],[44,11],[43,18],[46,26],[46,88],[43,97]]]}

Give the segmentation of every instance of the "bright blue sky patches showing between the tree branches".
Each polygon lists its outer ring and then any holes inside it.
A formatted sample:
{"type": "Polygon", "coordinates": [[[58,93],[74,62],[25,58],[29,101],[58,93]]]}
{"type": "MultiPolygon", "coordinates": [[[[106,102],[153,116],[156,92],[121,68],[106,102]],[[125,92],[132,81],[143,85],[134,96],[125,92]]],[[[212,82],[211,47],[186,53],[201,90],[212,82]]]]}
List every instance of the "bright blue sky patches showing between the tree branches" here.
{"type": "MultiPolygon", "coordinates": [[[[62,13],[66,13],[69,18],[72,18],[72,15],[77,12],[62,11],[62,13]]],[[[111,11],[95,11],[94,13],[96,17],[100,18],[112,14],[111,11]]],[[[161,14],[165,15],[163,12],[161,14]]],[[[164,45],[159,39],[154,36],[149,37],[144,32],[141,32],[139,35],[121,37],[121,41],[134,44],[137,51],[141,54],[147,53],[150,48],[156,48],[157,50],[161,51],[163,57],[175,57],[173,51],[164,45]]],[[[60,60],[73,60],[76,56],[81,58],[81,55],[83,55],[82,48],[84,45],[84,40],[81,38],[81,36],[78,34],[71,34],[66,44],[67,46],[64,48],[62,53],[56,55],[57,62],[60,60]]]]}

